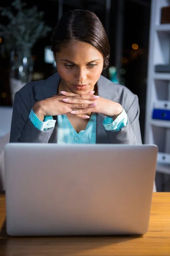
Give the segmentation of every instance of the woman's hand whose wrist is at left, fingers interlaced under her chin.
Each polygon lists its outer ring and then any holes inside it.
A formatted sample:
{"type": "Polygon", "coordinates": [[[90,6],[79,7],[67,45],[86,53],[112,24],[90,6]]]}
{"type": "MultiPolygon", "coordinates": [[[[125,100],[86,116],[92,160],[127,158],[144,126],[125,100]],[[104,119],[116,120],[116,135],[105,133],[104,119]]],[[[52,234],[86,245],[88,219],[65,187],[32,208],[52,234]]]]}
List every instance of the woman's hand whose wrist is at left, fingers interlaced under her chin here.
{"type": "MultiPolygon", "coordinates": [[[[63,92],[62,92],[63,93],[63,92]]],[[[66,97],[64,95],[54,95],[51,98],[47,98],[41,101],[38,101],[33,106],[33,111],[37,115],[37,117],[43,121],[45,116],[58,116],[58,115],[65,115],[67,113],[71,113],[71,111],[88,108],[94,108],[94,102],[96,99],[94,99],[93,95],[94,91],[89,92],[88,94],[84,95],[84,104],[69,104],[67,102],[66,97]],[[67,103],[66,103],[67,102],[67,103]]],[[[67,94],[67,93],[66,93],[67,94]]],[[[78,94],[75,93],[69,93],[67,95],[67,98],[69,99],[75,99],[78,94]]],[[[80,103],[81,101],[79,101],[80,103]]],[[[89,111],[88,111],[89,112],[89,111]]],[[[91,111],[90,111],[91,112],[91,111]]],[[[87,119],[90,116],[86,116],[85,114],[81,115],[81,118],[87,119]]]]}

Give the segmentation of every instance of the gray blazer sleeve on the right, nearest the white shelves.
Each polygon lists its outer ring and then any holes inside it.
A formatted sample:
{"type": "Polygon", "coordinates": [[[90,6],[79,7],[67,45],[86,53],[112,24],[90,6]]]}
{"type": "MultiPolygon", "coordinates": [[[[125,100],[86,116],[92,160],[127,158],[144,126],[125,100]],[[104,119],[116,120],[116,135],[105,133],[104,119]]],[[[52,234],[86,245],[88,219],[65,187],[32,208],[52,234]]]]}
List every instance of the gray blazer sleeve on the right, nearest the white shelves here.
{"type": "Polygon", "coordinates": [[[110,143],[114,144],[142,144],[141,131],[139,125],[139,101],[135,95],[129,109],[126,110],[127,125],[120,131],[106,131],[110,143]]]}

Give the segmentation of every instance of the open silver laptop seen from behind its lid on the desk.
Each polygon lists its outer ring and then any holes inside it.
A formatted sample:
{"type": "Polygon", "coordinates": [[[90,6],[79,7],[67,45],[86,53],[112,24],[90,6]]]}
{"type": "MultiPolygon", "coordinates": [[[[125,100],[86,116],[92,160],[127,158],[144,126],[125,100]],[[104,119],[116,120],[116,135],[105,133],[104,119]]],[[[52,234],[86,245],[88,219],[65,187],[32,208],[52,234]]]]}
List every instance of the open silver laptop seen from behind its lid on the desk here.
{"type": "Polygon", "coordinates": [[[156,145],[8,143],[9,236],[143,235],[156,145]]]}

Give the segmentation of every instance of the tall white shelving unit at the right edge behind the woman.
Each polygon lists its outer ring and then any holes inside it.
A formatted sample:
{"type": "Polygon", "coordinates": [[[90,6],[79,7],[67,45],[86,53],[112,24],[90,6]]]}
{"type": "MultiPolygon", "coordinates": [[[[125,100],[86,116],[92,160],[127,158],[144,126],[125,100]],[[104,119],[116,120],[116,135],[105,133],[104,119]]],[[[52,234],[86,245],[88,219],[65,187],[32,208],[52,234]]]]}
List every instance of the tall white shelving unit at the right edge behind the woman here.
{"type": "Polygon", "coordinates": [[[144,143],[158,146],[156,171],[170,175],[170,121],[152,119],[156,105],[170,110],[170,73],[155,72],[155,65],[170,64],[170,24],[160,23],[164,6],[170,0],[152,0],[144,143]]]}

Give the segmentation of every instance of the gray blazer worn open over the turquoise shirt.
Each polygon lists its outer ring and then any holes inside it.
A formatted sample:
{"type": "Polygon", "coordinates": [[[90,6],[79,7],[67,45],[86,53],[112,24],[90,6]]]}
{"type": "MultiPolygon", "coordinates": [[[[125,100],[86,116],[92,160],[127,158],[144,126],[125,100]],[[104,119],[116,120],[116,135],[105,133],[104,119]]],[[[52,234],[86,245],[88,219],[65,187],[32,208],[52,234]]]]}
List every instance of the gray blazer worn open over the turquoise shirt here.
{"type": "MultiPolygon", "coordinates": [[[[59,74],[55,73],[46,80],[26,84],[15,93],[10,142],[57,143],[57,122],[54,128],[40,131],[28,116],[35,102],[57,93],[59,79],[59,74]]],[[[121,131],[106,131],[102,124],[106,116],[97,114],[96,143],[142,144],[138,97],[125,86],[103,76],[100,76],[97,86],[99,96],[122,105],[128,116],[128,124],[121,131]]],[[[57,120],[57,116],[53,118],[57,120]]]]}

